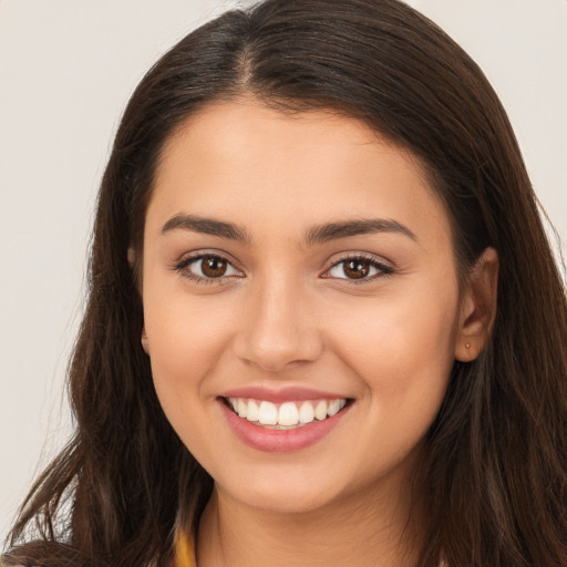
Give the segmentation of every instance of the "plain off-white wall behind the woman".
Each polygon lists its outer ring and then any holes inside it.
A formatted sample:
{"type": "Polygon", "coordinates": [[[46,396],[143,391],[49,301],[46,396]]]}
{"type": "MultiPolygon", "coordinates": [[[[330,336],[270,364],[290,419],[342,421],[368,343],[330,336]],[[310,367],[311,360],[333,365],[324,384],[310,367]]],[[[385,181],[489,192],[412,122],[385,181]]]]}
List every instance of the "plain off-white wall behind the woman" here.
{"type": "MultiPolygon", "coordinates": [[[[234,1],[0,0],[0,539],[70,433],[97,185],[134,86],[234,1]]],[[[413,0],[480,63],[567,239],[567,2],[413,0]]]]}

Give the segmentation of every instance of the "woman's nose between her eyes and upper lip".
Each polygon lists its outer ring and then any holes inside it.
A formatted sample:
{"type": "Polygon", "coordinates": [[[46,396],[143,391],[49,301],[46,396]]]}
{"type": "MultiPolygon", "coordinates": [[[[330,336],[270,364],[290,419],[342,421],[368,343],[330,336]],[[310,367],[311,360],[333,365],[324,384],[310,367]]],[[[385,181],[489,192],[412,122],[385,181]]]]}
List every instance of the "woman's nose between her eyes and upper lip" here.
{"type": "Polygon", "coordinates": [[[266,372],[281,372],[317,360],[323,338],[313,301],[297,281],[275,277],[250,289],[244,320],[235,339],[238,358],[266,372]]]}

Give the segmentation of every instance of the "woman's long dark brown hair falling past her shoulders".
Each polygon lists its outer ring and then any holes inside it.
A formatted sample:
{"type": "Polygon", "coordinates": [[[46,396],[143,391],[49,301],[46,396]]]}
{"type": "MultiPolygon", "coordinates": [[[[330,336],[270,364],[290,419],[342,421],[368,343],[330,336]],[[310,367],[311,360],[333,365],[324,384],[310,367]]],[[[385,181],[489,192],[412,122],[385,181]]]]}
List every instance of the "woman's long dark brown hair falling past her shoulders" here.
{"type": "MultiPolygon", "coordinates": [[[[361,118],[426,165],[462,275],[499,255],[491,341],[455,362],[416,478],[420,567],[567,565],[567,302],[506,114],[477,65],[395,0],[267,0],[190,33],[147,73],[99,196],[89,302],[69,372],[76,431],[24,502],[6,556],[45,566],[163,564],[213,481],[157,401],[127,249],[142,248],[164,143],[215,100],[361,118]]],[[[141,255],[137,254],[137,257],[141,255]]]]}

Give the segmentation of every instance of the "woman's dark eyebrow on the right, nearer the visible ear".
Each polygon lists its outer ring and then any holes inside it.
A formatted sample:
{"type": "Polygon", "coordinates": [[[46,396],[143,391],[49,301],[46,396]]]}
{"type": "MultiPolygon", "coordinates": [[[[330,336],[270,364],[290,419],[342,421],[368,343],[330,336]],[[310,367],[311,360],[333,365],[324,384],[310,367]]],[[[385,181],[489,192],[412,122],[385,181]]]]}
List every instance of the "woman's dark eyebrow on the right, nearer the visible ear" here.
{"type": "Polygon", "coordinates": [[[323,244],[339,238],[369,235],[374,233],[394,233],[408,236],[412,240],[417,237],[406,226],[390,218],[369,218],[362,220],[348,220],[344,223],[329,223],[312,227],[306,235],[308,246],[323,244]]]}

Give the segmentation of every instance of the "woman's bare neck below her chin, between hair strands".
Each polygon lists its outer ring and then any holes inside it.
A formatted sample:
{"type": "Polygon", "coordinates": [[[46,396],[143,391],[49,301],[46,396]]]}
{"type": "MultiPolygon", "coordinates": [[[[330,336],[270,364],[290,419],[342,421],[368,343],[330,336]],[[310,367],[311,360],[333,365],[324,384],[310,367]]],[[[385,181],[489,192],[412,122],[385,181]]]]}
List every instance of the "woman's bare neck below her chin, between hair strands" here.
{"type": "Polygon", "coordinates": [[[199,526],[197,565],[415,567],[421,548],[416,507],[408,487],[392,488],[281,514],[250,508],[215,487],[199,526]]]}

